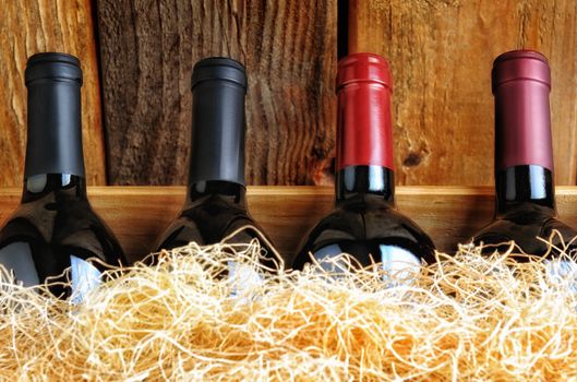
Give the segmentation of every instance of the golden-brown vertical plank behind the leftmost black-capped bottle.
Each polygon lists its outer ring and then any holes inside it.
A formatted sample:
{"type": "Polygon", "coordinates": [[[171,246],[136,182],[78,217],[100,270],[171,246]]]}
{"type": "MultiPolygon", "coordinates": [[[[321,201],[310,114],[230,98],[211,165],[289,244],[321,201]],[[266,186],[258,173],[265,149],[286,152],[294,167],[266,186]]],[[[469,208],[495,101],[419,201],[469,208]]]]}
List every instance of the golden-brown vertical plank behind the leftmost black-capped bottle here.
{"type": "Polygon", "coordinates": [[[20,186],[26,150],[26,59],[40,51],[79,57],[87,181],[106,184],[105,142],[91,0],[10,0],[0,5],[0,187],[20,186]]]}

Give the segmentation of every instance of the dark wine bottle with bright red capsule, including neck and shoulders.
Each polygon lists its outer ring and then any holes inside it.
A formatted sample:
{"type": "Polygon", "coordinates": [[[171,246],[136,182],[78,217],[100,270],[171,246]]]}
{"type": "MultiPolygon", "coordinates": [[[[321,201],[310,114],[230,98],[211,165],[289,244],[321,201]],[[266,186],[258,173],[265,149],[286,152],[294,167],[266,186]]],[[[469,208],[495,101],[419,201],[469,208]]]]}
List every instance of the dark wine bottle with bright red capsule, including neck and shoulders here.
{"type": "Polygon", "coordinates": [[[434,261],[432,240],[395,206],[388,63],[372,53],[339,60],[336,206],[309,234],[292,267],[350,254],[388,271],[434,261]]]}

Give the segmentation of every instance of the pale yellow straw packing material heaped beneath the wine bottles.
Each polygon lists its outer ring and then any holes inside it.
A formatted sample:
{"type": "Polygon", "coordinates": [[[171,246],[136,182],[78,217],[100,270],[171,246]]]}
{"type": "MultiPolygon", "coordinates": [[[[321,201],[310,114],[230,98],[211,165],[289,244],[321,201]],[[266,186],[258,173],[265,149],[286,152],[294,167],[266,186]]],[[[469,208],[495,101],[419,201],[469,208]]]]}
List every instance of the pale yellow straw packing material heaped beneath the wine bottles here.
{"type": "Polygon", "coordinates": [[[191,243],[83,303],[2,271],[0,380],[577,380],[577,264],[514,250],[271,274],[257,242],[191,243]]]}

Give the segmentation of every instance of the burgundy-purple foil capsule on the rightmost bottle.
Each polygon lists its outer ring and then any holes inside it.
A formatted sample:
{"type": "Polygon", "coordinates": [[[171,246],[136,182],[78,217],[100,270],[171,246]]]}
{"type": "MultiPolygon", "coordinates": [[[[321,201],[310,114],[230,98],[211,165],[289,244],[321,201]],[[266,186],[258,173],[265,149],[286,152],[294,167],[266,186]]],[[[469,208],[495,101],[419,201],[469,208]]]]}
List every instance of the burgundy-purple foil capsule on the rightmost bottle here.
{"type": "Polygon", "coordinates": [[[551,71],[546,58],[513,50],[493,62],[495,169],[538,165],[553,171],[551,71]]]}

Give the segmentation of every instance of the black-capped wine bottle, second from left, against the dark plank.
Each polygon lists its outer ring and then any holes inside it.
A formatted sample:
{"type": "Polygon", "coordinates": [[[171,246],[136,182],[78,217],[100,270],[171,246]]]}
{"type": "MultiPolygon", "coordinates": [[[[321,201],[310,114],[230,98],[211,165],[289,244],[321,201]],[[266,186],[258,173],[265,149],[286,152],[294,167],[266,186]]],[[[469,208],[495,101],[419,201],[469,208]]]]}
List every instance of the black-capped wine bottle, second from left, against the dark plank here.
{"type": "Polygon", "coordinates": [[[225,239],[248,243],[256,238],[263,251],[273,255],[274,249],[249,214],[245,200],[247,86],[244,67],[235,60],[214,57],[194,65],[187,199],[177,219],[160,237],[157,250],[192,241],[207,246],[225,239]]]}

